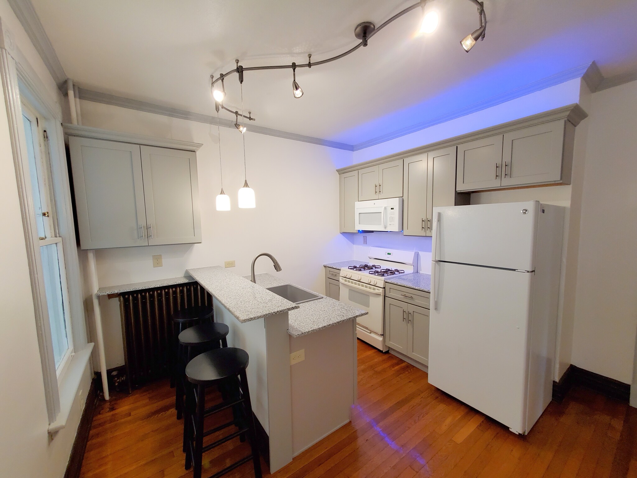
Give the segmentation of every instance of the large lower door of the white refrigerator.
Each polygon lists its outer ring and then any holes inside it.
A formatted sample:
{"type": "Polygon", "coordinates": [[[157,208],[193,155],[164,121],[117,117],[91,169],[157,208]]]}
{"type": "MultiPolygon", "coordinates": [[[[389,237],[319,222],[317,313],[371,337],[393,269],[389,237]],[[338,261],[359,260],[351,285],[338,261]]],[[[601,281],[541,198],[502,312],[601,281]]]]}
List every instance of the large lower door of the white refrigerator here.
{"type": "Polygon", "coordinates": [[[534,273],[434,263],[429,383],[526,433],[534,273]]]}

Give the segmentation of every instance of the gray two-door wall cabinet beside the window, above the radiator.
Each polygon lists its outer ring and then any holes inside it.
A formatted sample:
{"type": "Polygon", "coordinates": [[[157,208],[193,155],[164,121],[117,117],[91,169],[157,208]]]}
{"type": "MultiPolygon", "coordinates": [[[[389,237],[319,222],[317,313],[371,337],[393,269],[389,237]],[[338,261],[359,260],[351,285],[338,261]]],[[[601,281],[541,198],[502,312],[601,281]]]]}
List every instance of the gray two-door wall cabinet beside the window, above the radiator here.
{"type": "MultiPolygon", "coordinates": [[[[81,126],[67,129],[78,134],[67,131],[82,249],[201,242],[193,150],[103,139],[154,141],[146,136],[81,126]]],[[[155,143],[197,147],[161,138],[155,143]]]]}

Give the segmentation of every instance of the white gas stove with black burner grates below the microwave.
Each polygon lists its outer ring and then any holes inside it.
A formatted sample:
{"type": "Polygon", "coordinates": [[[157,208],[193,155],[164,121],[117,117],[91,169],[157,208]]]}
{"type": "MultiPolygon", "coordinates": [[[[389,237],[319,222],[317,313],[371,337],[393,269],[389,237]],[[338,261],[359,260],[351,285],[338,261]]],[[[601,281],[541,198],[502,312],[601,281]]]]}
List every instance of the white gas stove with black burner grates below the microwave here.
{"type": "Polygon", "coordinates": [[[357,337],[385,352],[385,279],[418,270],[418,253],[413,250],[370,247],[373,264],[341,268],[340,301],[368,312],[357,319],[357,337]]]}

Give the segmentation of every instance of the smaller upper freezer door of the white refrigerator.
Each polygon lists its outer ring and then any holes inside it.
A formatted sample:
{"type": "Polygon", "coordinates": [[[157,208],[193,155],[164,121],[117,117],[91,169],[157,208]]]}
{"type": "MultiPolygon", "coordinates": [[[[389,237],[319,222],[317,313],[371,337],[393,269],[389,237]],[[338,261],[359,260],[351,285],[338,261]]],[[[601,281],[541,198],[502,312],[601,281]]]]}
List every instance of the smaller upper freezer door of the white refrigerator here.
{"type": "Polygon", "coordinates": [[[538,201],[433,208],[431,259],[534,270],[539,209],[538,201]]]}

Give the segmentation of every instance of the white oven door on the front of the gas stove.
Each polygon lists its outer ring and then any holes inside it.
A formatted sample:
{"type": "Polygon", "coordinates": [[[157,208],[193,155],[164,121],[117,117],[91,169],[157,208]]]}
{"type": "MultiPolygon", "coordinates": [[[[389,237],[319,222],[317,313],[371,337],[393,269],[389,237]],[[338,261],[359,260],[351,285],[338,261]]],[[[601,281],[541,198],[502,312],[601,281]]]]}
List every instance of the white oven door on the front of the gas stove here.
{"type": "Polygon", "coordinates": [[[367,315],[356,319],[357,324],[378,335],[383,335],[385,289],[341,277],[339,300],[367,312],[367,315]]]}

